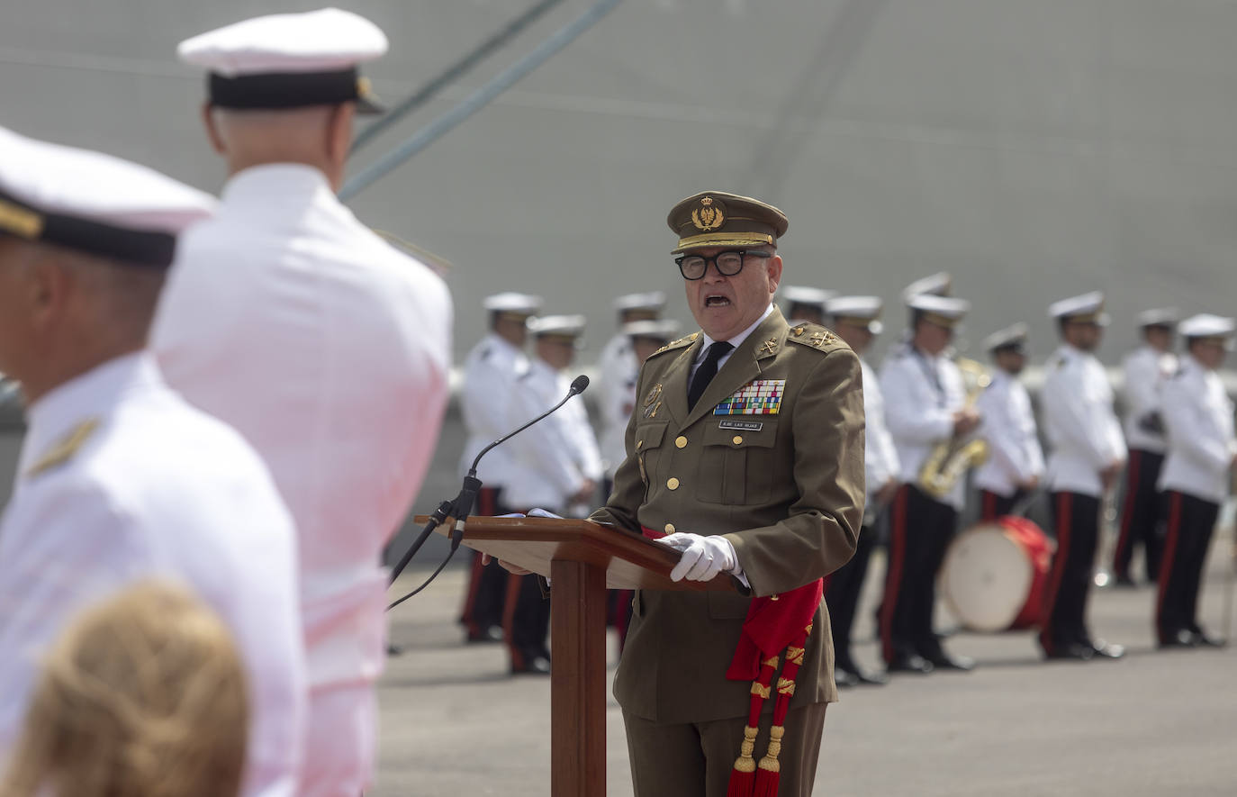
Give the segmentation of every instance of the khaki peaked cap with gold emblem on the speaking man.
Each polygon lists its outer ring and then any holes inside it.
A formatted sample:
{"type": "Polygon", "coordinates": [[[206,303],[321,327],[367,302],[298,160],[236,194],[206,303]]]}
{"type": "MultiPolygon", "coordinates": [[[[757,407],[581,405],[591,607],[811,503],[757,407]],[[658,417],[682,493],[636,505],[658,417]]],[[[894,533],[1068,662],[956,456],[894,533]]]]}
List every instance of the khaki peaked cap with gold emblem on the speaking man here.
{"type": "Polygon", "coordinates": [[[673,254],[706,246],[777,246],[790,222],[771,204],[722,191],[683,199],[666,217],[679,236],[673,254]]]}

